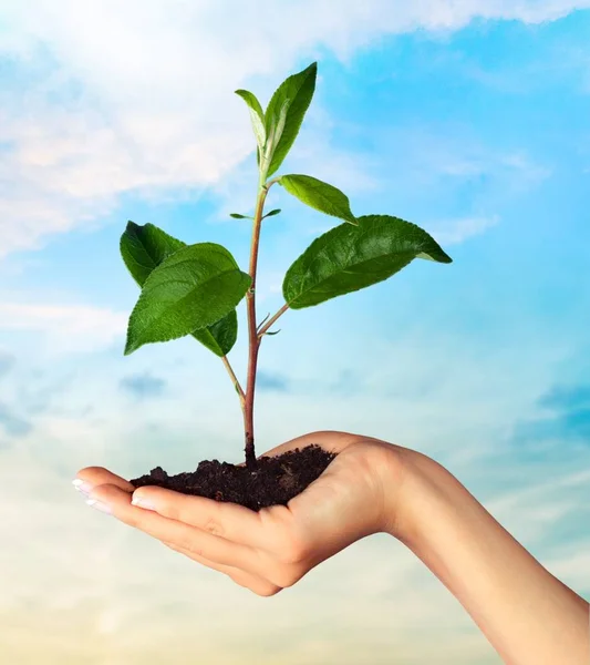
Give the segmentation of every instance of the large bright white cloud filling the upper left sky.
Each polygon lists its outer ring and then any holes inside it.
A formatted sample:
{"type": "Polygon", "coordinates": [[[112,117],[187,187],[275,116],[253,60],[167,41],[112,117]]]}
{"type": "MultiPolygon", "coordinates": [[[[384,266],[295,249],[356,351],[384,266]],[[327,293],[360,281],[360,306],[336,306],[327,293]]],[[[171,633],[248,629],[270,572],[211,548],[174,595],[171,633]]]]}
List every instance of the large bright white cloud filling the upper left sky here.
{"type": "Polygon", "coordinates": [[[105,214],[124,192],[154,195],[218,183],[251,149],[247,114],[231,90],[252,76],[269,94],[296,61],[323,49],[348,59],[386,34],[455,30],[476,17],[536,23],[589,6],[566,0],[4,3],[0,55],[19,76],[6,80],[0,95],[0,256],[105,214]]]}

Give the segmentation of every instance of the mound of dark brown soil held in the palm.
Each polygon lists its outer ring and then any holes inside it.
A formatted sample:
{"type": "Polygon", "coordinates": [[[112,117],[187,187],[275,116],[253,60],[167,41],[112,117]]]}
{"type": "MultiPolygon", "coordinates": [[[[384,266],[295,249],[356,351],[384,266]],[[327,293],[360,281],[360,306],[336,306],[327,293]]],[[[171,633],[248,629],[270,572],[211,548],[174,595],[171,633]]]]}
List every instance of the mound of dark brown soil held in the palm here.
{"type": "Polygon", "coordinates": [[[238,503],[258,512],[269,505],[287,505],[323,473],[337,454],[312,444],[277,457],[258,458],[256,471],[205,460],[196,471],[168,475],[162,467],[156,467],[130,482],[135,488],[158,485],[182,494],[238,503]]]}

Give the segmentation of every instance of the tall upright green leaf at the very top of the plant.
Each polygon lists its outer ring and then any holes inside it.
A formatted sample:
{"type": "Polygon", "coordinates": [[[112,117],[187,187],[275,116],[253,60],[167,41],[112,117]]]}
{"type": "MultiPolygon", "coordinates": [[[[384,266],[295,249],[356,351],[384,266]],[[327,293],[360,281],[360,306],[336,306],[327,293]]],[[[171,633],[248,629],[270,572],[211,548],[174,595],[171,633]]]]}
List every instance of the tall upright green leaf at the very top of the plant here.
{"type": "Polygon", "coordinates": [[[278,125],[281,123],[281,114],[284,120],[280,135],[272,136],[272,155],[266,173],[267,176],[272,175],[279,168],[299,134],[303,116],[315,90],[317,73],[318,63],[313,62],[302,72],[289,76],[275,91],[268,104],[265,113],[267,149],[272,133],[280,129],[278,125]]]}

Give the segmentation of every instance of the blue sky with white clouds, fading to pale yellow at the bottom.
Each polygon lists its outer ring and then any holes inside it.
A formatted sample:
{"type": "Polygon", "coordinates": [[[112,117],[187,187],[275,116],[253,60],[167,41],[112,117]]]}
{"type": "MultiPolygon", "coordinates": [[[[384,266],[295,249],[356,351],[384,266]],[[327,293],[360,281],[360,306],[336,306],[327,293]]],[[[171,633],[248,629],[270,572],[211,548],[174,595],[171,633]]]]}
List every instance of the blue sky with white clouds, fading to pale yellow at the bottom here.
{"type": "MultiPolygon", "coordinates": [[[[428,229],[452,265],[287,313],[257,451],[317,429],[445,464],[590,600],[590,2],[0,0],[0,654],[10,665],[493,665],[462,606],[377,534],[271,598],[90,510],[75,472],[242,461],[219,359],[123,357],[127,219],[247,265],[253,137],[319,61],[281,173],[428,229]]],[[[273,188],[260,316],[338,224],[273,188]]],[[[240,309],[244,335],[244,307],[240,309]]],[[[245,339],[230,354],[240,377],[245,339]]]]}

